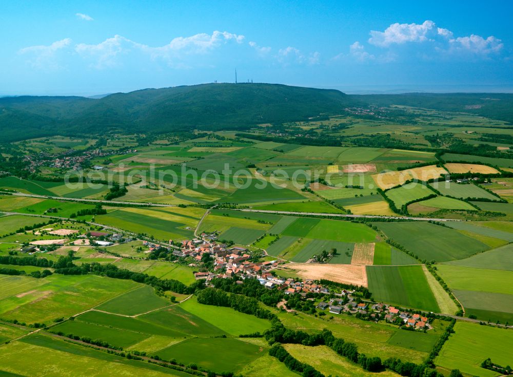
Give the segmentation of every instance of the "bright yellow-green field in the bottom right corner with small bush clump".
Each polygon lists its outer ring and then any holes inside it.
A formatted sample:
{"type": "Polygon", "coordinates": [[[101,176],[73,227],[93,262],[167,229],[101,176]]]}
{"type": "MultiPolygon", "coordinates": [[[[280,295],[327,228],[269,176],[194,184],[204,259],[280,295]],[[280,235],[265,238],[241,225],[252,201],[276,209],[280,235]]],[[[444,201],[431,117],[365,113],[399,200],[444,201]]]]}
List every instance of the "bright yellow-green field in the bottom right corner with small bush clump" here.
{"type": "Polygon", "coordinates": [[[457,322],[454,329],[435,359],[436,365],[484,377],[498,375],[480,367],[488,357],[502,366],[513,365],[513,332],[467,322],[457,322]]]}

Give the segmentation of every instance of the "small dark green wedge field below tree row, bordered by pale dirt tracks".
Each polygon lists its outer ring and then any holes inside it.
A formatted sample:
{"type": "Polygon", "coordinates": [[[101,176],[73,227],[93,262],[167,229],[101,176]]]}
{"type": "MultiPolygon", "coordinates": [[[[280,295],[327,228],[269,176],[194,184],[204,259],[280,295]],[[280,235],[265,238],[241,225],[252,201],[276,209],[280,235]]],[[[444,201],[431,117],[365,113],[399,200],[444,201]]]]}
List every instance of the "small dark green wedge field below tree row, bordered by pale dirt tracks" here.
{"type": "Polygon", "coordinates": [[[130,292],[114,297],[97,307],[110,313],[134,315],[171,305],[170,301],[159,297],[155,290],[143,286],[130,292]]]}

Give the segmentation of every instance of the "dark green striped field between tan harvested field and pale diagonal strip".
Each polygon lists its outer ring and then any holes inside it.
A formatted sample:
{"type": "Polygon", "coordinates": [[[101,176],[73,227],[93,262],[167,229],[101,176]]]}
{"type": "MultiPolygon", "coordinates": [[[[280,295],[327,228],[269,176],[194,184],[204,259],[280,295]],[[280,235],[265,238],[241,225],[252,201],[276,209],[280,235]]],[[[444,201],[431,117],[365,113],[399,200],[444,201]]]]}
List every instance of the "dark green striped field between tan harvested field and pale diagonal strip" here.
{"type": "Polygon", "coordinates": [[[374,299],[403,307],[439,312],[422,266],[367,266],[374,299]]]}

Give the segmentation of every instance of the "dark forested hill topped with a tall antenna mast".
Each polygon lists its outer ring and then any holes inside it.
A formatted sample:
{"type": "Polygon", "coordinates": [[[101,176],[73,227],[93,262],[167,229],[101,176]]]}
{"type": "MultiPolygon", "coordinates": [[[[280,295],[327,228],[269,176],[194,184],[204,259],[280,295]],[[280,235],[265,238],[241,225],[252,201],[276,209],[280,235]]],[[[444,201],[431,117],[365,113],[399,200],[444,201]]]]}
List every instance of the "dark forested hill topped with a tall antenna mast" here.
{"type": "Polygon", "coordinates": [[[84,97],[0,98],[0,142],[69,133],[244,129],[340,114],[359,100],[338,90],[202,84],[84,97]]]}

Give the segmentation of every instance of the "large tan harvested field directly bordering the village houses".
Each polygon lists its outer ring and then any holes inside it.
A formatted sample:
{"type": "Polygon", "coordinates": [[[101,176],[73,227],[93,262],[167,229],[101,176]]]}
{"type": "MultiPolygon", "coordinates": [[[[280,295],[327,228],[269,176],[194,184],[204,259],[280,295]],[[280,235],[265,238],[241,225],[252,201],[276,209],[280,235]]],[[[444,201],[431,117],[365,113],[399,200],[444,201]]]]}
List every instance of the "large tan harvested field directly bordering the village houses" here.
{"type": "Polygon", "coordinates": [[[321,263],[288,263],[280,267],[294,271],[298,277],[302,277],[304,279],[328,279],[345,284],[367,287],[367,272],[365,270],[365,266],[321,263]]]}

